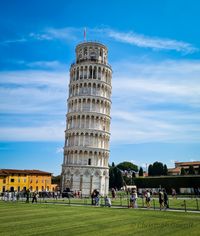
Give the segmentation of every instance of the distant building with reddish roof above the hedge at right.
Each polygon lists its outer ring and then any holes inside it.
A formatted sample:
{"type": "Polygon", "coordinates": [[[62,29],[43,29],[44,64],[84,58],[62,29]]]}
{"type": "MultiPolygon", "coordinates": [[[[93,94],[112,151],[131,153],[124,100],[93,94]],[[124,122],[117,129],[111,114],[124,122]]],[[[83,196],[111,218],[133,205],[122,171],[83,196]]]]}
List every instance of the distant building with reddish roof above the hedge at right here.
{"type": "Polygon", "coordinates": [[[200,161],[175,162],[175,168],[168,168],[168,175],[180,175],[181,168],[184,168],[187,174],[190,166],[193,166],[194,171],[197,174],[198,168],[200,166],[200,161]]]}

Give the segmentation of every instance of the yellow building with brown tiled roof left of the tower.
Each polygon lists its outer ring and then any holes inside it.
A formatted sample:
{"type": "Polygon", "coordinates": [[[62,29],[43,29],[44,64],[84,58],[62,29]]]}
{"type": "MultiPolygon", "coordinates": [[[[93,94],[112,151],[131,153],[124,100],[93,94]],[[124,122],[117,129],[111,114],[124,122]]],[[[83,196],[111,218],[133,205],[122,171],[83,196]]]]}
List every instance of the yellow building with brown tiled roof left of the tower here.
{"type": "Polygon", "coordinates": [[[51,173],[41,170],[0,169],[0,192],[52,191],[51,173]]]}

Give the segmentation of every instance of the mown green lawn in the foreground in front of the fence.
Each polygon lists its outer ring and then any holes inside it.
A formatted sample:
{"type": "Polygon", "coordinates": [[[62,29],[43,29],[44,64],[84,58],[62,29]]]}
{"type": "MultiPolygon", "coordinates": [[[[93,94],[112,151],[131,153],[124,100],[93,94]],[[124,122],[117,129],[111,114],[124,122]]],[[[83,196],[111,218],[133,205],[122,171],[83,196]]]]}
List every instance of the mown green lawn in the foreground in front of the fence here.
{"type": "Polygon", "coordinates": [[[200,214],[0,202],[0,235],[199,235],[200,214]]]}

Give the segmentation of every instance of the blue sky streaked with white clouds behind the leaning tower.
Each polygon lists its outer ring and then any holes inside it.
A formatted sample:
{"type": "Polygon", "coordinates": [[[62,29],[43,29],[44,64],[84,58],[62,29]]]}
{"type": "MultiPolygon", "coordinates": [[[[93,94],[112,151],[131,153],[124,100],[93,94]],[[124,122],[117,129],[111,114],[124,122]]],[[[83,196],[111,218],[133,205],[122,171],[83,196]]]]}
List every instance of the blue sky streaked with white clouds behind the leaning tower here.
{"type": "Polygon", "coordinates": [[[110,163],[199,160],[199,10],[197,0],[1,1],[0,168],[60,173],[84,27],[113,69],[110,163]]]}

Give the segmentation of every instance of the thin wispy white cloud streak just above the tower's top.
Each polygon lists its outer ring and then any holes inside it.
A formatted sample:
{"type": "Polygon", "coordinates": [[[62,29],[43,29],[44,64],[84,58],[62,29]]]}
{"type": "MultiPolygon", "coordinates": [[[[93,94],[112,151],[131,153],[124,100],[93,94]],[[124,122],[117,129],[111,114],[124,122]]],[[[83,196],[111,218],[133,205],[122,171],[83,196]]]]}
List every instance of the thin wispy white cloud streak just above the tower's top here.
{"type": "MultiPolygon", "coordinates": [[[[116,41],[128,43],[142,48],[152,48],[156,50],[175,50],[183,53],[194,53],[198,51],[192,44],[173,39],[151,37],[138,34],[136,32],[120,32],[111,28],[89,28],[91,37],[108,37],[116,41]]],[[[51,39],[77,40],[83,28],[66,27],[61,29],[49,28],[46,30],[47,37],[51,39]]]]}

